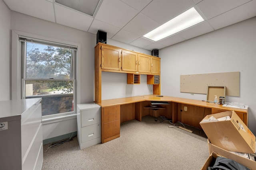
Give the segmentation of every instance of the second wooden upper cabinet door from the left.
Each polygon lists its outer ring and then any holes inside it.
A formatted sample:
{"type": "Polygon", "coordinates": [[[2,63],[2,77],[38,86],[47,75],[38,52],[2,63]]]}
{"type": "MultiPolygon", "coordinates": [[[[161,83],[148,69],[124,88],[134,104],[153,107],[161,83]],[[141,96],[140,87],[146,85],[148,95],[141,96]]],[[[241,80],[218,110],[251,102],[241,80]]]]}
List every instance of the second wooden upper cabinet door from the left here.
{"type": "Polygon", "coordinates": [[[122,51],[122,70],[138,72],[138,54],[131,51],[122,51]]]}

